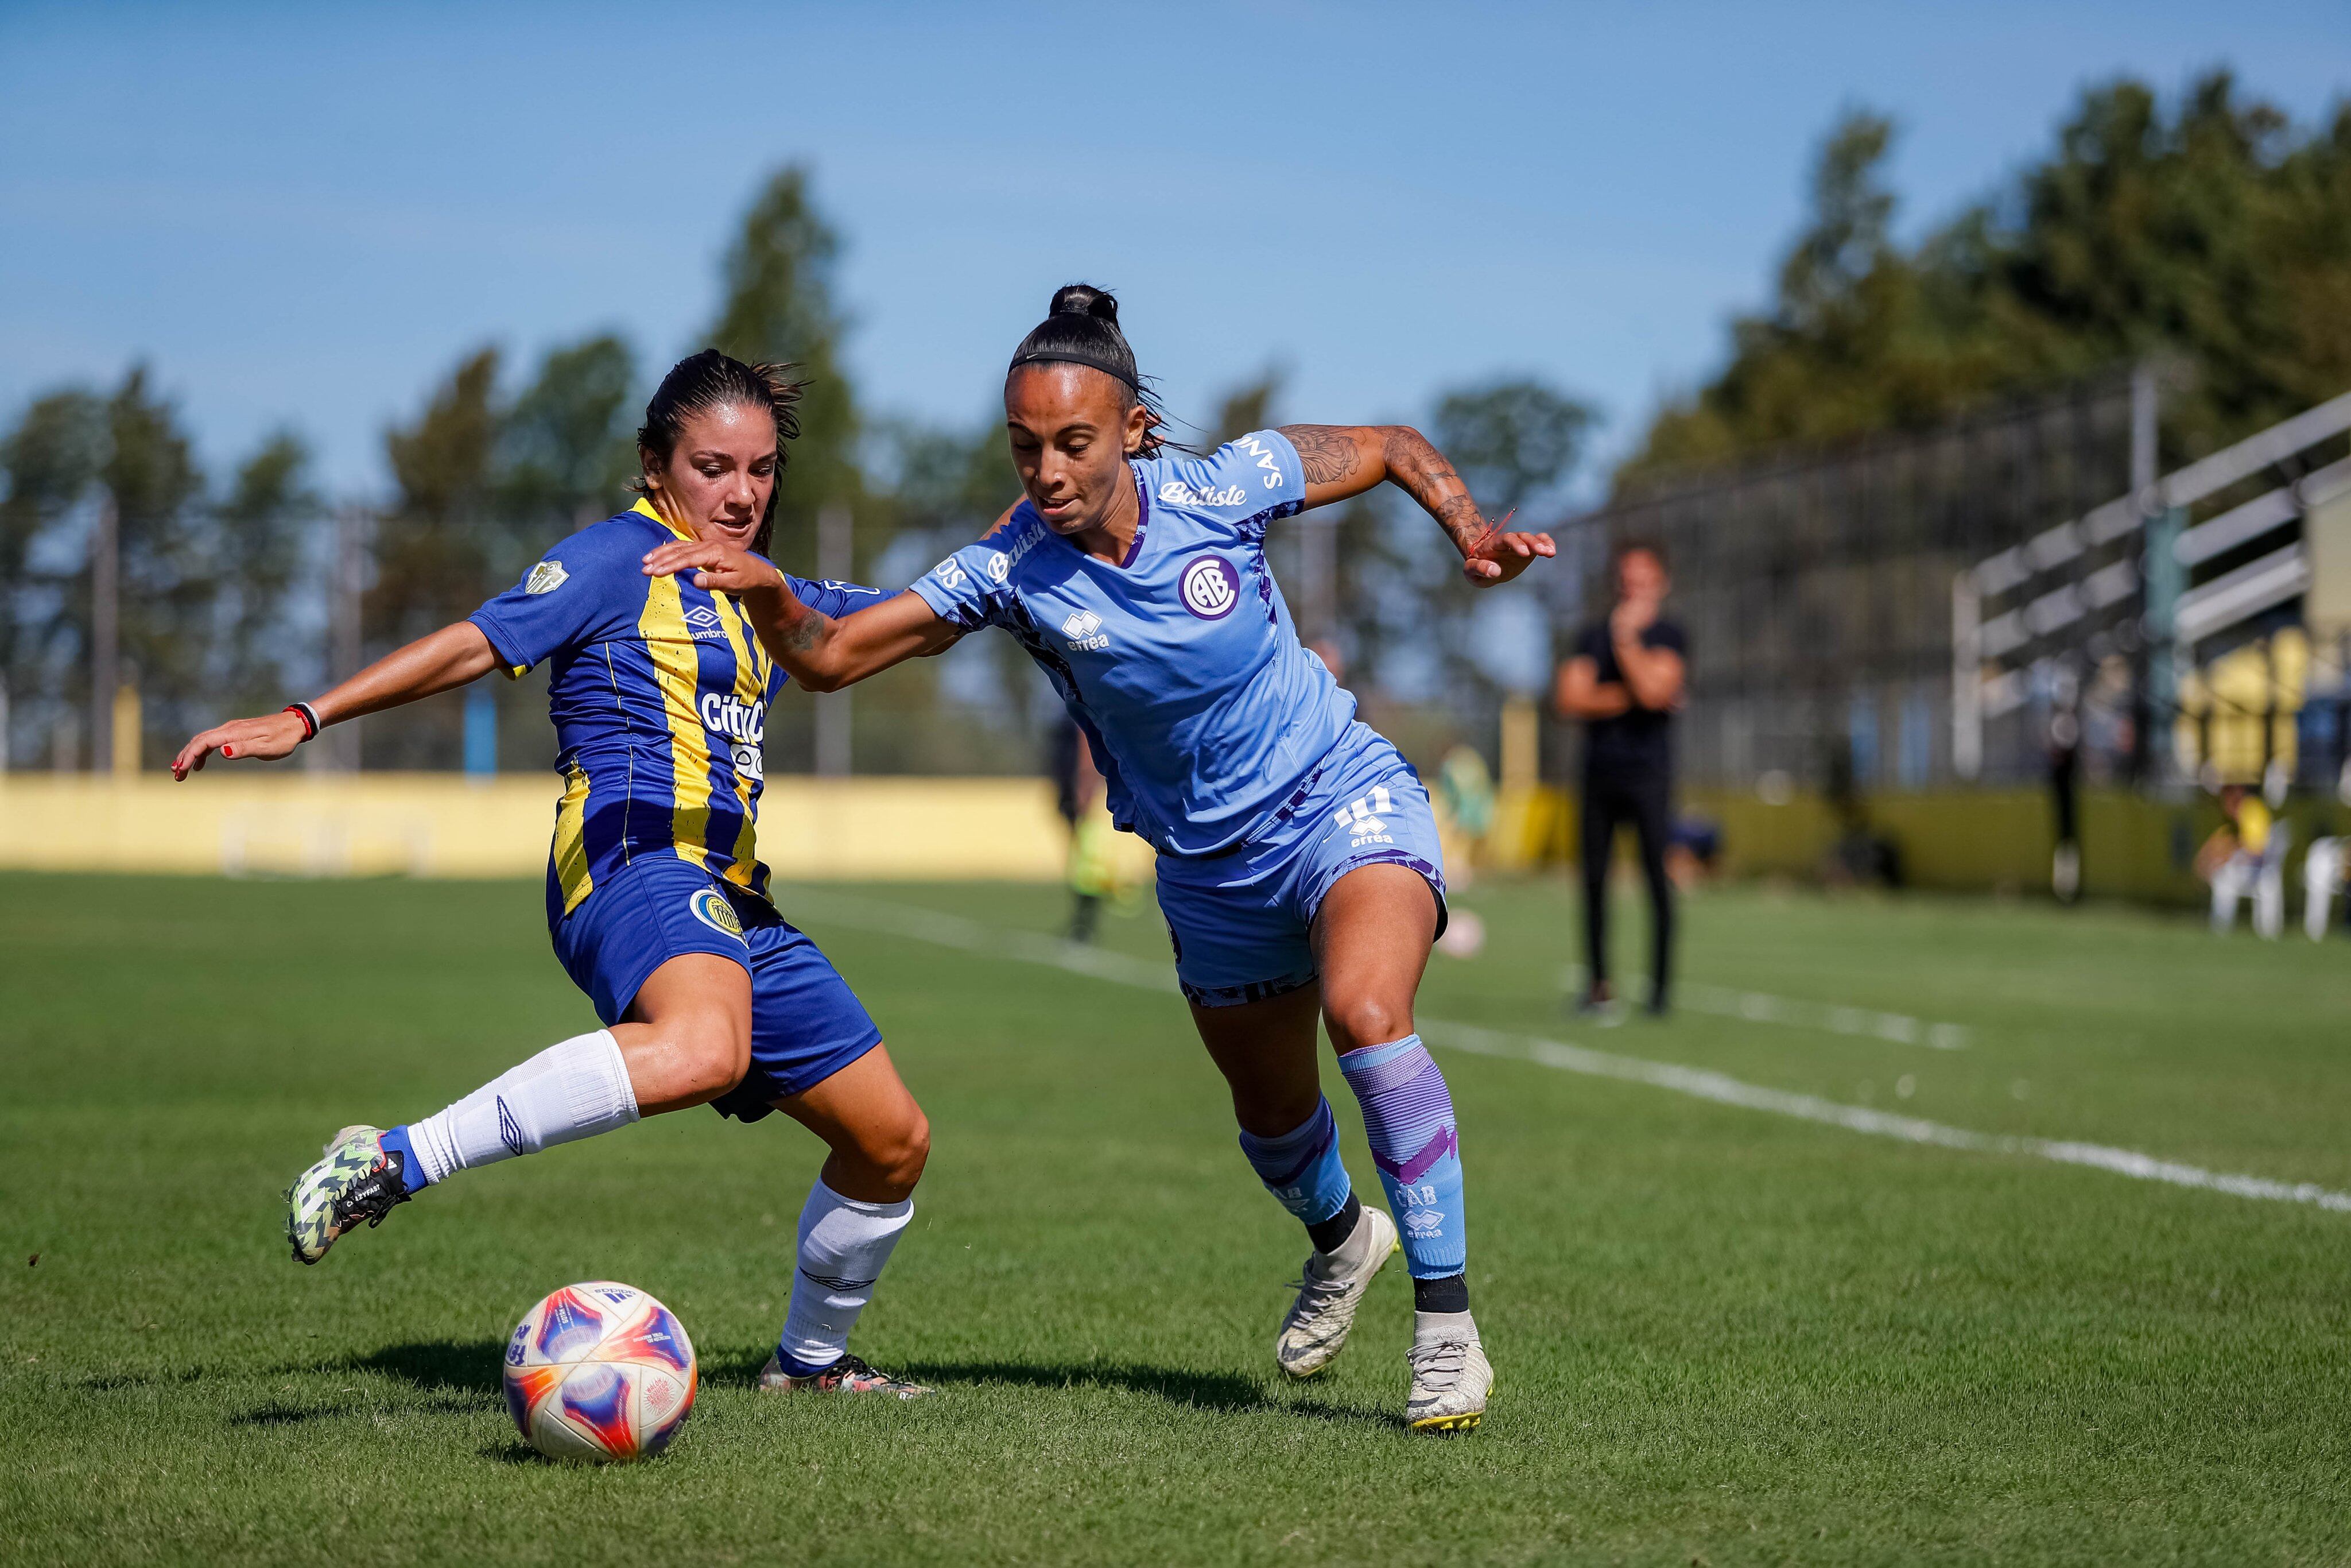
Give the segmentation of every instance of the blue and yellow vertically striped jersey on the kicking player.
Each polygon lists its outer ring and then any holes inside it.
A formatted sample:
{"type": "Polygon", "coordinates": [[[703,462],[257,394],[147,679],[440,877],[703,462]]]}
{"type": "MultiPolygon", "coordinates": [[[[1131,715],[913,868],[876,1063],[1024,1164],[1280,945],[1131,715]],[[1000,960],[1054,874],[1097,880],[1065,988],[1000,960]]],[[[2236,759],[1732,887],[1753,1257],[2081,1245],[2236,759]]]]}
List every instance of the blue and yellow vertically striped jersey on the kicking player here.
{"type": "MultiPolygon", "coordinates": [[[[637,856],[677,856],[766,896],[757,816],[766,710],[790,679],[724,592],[644,576],[654,545],[691,538],[639,501],[548,550],[470,618],[513,677],[550,661],[564,795],[548,858],[562,919],[637,856]]],[[[828,616],[875,588],[788,578],[828,616]]]]}

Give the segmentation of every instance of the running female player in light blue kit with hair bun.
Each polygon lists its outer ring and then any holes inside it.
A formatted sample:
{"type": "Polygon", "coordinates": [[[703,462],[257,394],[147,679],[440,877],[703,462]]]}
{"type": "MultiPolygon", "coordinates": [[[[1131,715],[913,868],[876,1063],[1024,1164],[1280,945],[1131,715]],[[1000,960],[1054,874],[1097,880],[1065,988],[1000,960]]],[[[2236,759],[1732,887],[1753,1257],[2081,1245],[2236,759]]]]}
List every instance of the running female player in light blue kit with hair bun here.
{"type": "Polygon", "coordinates": [[[1453,1098],[1413,1032],[1444,931],[1420,776],[1359,724],[1298,642],[1265,529],[1382,480],[1418,501],[1476,585],[1552,555],[1488,527],[1444,456],[1401,425],[1284,425],[1206,458],[1161,454],[1117,303],[1072,284],[1023,341],[1004,416],[1027,501],[882,604],[839,616],[724,541],[668,543],[649,574],[731,592],[795,679],[830,691],[999,625],[1086,731],[1117,823],[1159,851],[1159,907],[1241,1150],[1314,1253],[1274,1359],[1340,1352],[1392,1251],[1413,1274],[1406,1420],[1474,1427],[1493,1368],[1469,1316],[1453,1098]],[[1317,1013],[1364,1110],[1394,1213],[1364,1208],[1314,1067],[1317,1013]]]}

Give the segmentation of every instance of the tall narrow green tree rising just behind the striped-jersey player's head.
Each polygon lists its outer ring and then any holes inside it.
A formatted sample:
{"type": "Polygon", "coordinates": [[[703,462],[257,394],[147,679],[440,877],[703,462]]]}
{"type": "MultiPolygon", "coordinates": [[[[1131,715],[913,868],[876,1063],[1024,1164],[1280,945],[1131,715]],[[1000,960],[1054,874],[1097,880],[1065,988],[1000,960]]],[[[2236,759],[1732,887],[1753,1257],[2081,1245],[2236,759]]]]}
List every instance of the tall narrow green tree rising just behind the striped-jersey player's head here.
{"type": "Polygon", "coordinates": [[[804,383],[799,440],[776,498],[776,548],[795,562],[813,559],[816,512],[860,496],[858,404],[839,364],[846,317],[832,292],[839,252],[809,195],[809,172],[778,169],[726,252],[724,303],[708,336],[736,360],[790,362],[804,383]]]}

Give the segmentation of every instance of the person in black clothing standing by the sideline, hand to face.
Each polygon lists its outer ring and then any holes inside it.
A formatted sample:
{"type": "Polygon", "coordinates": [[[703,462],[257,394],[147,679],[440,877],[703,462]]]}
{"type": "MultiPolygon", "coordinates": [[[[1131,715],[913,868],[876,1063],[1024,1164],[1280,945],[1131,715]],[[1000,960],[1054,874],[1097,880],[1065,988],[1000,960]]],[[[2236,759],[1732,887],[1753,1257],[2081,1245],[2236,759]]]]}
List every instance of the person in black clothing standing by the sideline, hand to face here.
{"type": "Polygon", "coordinates": [[[1674,830],[1674,708],[1688,637],[1657,611],[1672,581],[1655,545],[1622,543],[1610,559],[1615,607],[1585,628],[1559,665],[1559,715],[1585,722],[1585,959],[1582,1013],[1615,1001],[1608,985],[1608,860],[1620,823],[1641,839],[1650,905],[1648,1011],[1665,1013],[1674,973],[1674,882],[1665,849],[1674,830]]]}

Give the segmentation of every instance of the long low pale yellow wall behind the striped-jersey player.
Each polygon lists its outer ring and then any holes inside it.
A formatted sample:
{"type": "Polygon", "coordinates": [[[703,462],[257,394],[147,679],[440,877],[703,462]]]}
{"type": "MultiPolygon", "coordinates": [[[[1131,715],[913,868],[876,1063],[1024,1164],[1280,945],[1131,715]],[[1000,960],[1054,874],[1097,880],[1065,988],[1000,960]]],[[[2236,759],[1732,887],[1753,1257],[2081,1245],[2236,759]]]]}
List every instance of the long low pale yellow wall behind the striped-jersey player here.
{"type": "MultiPolygon", "coordinates": [[[[456,773],[0,773],[0,867],[277,877],[536,877],[560,780],[456,773]]],[[[771,778],[759,858],[783,877],[1060,879],[1034,778],[771,778]]]]}

